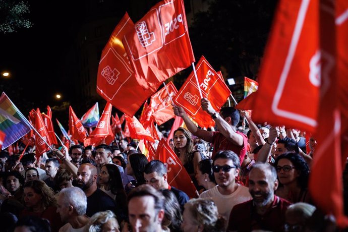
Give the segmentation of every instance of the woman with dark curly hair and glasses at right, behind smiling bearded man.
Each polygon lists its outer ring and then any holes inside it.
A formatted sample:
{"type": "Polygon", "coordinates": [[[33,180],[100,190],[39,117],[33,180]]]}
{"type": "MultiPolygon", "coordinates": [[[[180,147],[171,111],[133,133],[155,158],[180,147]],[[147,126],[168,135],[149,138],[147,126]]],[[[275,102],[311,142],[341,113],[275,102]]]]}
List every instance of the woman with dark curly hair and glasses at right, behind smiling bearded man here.
{"type": "Polygon", "coordinates": [[[279,187],[275,194],[292,203],[309,202],[307,190],[309,166],[297,153],[287,152],[279,155],[274,162],[279,187]]]}

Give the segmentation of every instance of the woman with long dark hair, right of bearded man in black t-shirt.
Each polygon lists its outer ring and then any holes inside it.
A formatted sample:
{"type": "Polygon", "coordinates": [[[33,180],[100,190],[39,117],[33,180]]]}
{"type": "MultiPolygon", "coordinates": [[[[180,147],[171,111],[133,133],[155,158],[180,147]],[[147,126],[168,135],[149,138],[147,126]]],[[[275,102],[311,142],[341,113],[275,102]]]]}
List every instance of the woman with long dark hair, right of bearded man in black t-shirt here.
{"type": "Polygon", "coordinates": [[[117,218],[121,223],[127,219],[128,205],[127,194],[123,188],[119,168],[111,163],[104,164],[99,173],[100,190],[109,195],[117,204],[117,218]]]}

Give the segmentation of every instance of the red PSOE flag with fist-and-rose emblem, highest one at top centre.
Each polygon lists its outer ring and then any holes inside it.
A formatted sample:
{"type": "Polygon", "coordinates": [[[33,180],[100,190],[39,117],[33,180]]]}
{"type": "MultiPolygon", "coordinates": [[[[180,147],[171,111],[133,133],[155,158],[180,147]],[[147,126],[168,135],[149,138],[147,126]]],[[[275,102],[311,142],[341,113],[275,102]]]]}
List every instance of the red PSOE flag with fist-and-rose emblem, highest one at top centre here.
{"type": "Polygon", "coordinates": [[[195,61],[183,0],[159,2],[122,41],[144,89],[158,87],[195,61]]]}

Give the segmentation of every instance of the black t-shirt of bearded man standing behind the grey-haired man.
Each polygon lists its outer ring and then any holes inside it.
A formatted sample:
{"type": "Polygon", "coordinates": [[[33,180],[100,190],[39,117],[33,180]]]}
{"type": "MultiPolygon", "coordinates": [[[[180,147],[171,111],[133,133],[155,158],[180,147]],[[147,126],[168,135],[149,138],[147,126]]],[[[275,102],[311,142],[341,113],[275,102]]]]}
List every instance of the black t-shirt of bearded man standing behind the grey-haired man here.
{"type": "Polygon", "coordinates": [[[116,211],[116,203],[106,193],[97,189],[91,196],[87,197],[86,215],[91,217],[99,211],[111,210],[116,211]]]}

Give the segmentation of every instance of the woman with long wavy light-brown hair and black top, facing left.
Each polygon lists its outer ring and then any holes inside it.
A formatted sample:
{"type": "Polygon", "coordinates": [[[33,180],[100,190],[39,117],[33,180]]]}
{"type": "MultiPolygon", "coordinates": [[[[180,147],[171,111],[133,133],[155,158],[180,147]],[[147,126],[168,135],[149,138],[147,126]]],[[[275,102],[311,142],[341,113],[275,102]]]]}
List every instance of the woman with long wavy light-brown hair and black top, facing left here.
{"type": "Polygon", "coordinates": [[[196,182],[195,171],[199,161],[202,160],[201,153],[194,150],[192,134],[185,128],[179,127],[174,131],[174,151],[183,163],[191,179],[196,182]]]}

